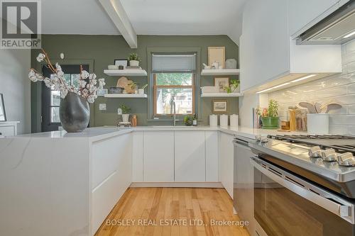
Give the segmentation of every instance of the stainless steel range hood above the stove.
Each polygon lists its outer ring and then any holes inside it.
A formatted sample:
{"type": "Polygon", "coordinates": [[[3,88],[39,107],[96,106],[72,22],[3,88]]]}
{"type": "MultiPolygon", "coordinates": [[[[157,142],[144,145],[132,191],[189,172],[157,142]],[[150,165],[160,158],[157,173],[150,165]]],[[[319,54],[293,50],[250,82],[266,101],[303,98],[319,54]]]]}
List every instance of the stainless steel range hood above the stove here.
{"type": "Polygon", "coordinates": [[[297,45],[343,44],[355,38],[355,0],[334,11],[297,38],[297,45]]]}

